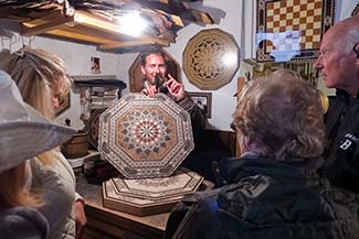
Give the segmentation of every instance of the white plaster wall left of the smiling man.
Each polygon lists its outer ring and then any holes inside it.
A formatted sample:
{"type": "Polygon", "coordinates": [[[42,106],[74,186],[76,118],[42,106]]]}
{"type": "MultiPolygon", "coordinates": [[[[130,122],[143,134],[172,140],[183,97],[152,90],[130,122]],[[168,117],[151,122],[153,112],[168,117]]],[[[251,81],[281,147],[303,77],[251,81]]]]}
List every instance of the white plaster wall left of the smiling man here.
{"type": "MultiPolygon", "coordinates": [[[[42,48],[59,55],[66,65],[68,75],[116,75],[118,78],[122,63],[119,55],[105,53],[96,50],[96,46],[73,43],[68,41],[54,40],[42,36],[22,36],[15,24],[0,22],[0,29],[3,32],[1,37],[0,51],[9,50],[15,52],[23,45],[30,45],[33,48],[42,48]],[[99,62],[101,70],[92,69],[92,59],[96,57],[99,62]]],[[[119,78],[120,79],[120,78],[119,78]]],[[[84,123],[80,120],[81,107],[80,95],[71,93],[71,107],[61,113],[55,121],[65,124],[65,119],[71,120],[71,126],[76,129],[83,129],[84,123]]]]}

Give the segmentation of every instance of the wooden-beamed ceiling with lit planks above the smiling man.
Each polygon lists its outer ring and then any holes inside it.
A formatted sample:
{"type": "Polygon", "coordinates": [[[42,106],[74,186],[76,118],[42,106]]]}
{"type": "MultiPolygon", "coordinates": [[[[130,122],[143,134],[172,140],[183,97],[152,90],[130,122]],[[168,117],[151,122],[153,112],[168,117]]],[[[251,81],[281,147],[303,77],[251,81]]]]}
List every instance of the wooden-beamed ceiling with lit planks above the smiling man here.
{"type": "MultiPolygon", "coordinates": [[[[95,44],[103,51],[133,51],[148,44],[169,46],[191,23],[207,25],[223,18],[203,1],[183,0],[0,0],[0,20],[20,24],[23,35],[47,35],[95,44]],[[126,18],[137,13],[128,23],[126,18]],[[133,23],[141,19],[137,26],[133,23]],[[138,34],[141,25],[147,28],[138,34]]],[[[0,33],[1,34],[1,33],[0,33]]]]}

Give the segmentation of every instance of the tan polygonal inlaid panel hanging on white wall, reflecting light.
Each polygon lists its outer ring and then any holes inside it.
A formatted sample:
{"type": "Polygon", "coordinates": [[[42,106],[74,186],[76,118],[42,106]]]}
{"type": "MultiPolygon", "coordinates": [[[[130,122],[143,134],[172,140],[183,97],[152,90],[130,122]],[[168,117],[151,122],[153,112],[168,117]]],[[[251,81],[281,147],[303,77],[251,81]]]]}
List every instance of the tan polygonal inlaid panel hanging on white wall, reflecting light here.
{"type": "Polygon", "coordinates": [[[240,48],[232,35],[219,29],[202,30],[189,40],[183,52],[183,70],[200,89],[219,89],[237,70],[240,48]]]}

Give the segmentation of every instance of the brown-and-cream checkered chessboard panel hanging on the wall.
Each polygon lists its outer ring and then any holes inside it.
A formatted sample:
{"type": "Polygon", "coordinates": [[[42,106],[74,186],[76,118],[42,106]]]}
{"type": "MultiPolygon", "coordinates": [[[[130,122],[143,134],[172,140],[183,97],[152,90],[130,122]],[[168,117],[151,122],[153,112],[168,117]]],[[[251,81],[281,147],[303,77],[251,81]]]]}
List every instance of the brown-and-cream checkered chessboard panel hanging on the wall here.
{"type": "Polygon", "coordinates": [[[258,0],[258,62],[318,57],[323,34],[332,25],[335,0],[258,0]]]}

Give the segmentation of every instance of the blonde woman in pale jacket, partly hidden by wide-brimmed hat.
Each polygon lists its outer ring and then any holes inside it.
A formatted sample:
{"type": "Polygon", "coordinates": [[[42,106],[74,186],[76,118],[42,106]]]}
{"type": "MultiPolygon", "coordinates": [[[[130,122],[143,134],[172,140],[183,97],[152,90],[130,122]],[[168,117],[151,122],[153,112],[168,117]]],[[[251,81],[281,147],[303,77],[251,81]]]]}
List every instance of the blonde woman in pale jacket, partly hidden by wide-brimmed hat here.
{"type": "MultiPolygon", "coordinates": [[[[68,93],[63,61],[42,50],[24,47],[0,59],[0,69],[17,83],[25,102],[49,119],[61,97],[68,93]]],[[[59,149],[31,161],[32,186],[44,187],[44,205],[39,209],[50,222],[50,238],[81,238],[86,224],[84,202],[75,193],[75,176],[59,149]]]]}

